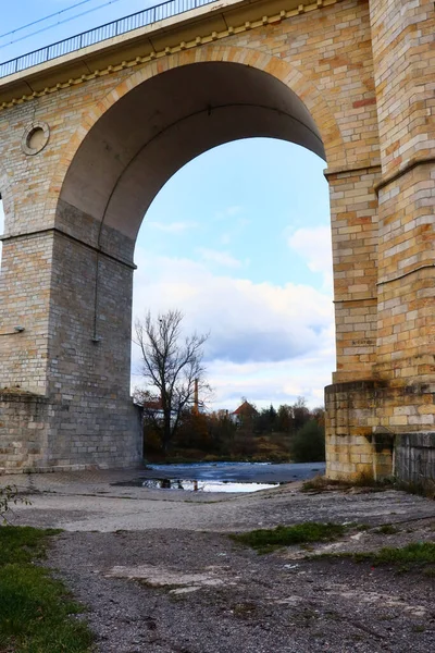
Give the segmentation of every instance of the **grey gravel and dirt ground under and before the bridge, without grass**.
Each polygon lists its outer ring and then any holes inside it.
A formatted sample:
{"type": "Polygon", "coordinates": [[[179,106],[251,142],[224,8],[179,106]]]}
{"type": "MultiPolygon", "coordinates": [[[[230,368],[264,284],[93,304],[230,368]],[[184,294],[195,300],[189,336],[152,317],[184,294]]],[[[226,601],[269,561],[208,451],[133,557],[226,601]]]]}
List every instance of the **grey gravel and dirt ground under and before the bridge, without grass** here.
{"type": "Polygon", "coordinates": [[[15,523],[63,529],[47,564],[88,606],[99,652],[435,651],[434,576],[315,557],[434,541],[434,502],[390,490],[304,494],[291,484],[249,495],[112,484],[128,473],[8,478],[32,501],[17,506],[15,523]],[[268,555],[228,538],[302,521],[365,530],[268,555]],[[377,532],[382,525],[396,532],[377,532]]]}

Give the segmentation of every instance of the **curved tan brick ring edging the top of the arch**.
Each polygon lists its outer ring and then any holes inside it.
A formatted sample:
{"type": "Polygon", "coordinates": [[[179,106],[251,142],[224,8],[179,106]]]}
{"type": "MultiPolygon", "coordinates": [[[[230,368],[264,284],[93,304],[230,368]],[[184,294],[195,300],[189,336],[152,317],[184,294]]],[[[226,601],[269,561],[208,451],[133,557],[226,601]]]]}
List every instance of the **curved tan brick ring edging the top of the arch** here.
{"type": "MultiPolygon", "coordinates": [[[[50,208],[55,211],[57,190],[59,192],[59,187],[62,185],[67,169],[79,146],[90,132],[91,127],[111,107],[113,107],[124,95],[161,73],[174,67],[209,61],[232,62],[248,65],[269,73],[285,84],[285,86],[298,96],[311,113],[321,134],[326,151],[326,158],[328,149],[333,147],[337,148],[338,146],[341,149],[343,158],[346,161],[346,146],[337,121],[320,90],[304,73],[301,73],[287,61],[277,57],[264,54],[264,52],[252,48],[206,46],[185,50],[175,54],[169,54],[162,59],[141,65],[139,70],[136,70],[126,79],[123,79],[112,88],[103,99],[96,102],[96,104],[84,114],[79,127],[65,147],[62,157],[63,165],[57,171],[52,178],[48,194],[48,198],[51,198],[51,201],[53,202],[50,208]]],[[[49,207],[46,205],[46,208],[49,207]]]]}

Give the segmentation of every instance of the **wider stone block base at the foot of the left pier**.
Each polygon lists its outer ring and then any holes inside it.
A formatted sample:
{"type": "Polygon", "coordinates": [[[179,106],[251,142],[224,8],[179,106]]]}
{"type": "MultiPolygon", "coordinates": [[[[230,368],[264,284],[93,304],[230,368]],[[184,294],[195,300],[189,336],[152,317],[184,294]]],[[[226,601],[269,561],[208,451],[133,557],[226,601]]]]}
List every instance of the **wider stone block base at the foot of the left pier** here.
{"type": "Polygon", "coordinates": [[[78,407],[0,392],[1,473],[128,468],[141,459],[140,415],[128,398],[92,397],[78,407]]]}

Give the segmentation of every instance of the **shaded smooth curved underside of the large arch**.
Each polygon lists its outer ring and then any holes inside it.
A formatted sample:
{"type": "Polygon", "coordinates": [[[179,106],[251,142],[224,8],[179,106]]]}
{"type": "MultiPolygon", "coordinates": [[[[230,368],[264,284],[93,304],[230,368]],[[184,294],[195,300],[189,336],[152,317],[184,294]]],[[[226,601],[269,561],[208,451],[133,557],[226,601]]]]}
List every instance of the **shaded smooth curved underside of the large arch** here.
{"type": "Polygon", "coordinates": [[[62,186],[63,221],[83,227],[85,215],[97,239],[103,225],[129,242],[133,255],[148,207],[177,170],[213,147],[260,136],[325,158],[306,106],[271,74],[229,62],[159,74],[116,101],[85,137],[62,186]]]}

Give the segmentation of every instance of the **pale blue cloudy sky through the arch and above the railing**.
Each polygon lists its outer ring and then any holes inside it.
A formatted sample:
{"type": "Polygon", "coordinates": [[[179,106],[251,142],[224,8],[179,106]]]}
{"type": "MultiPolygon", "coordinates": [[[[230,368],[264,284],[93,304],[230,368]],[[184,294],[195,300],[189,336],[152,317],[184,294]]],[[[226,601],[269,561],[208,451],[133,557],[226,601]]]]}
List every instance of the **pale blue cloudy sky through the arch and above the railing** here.
{"type": "MultiPolygon", "coordinates": [[[[77,1],[8,3],[0,33],[77,1]]],[[[101,4],[89,0],[47,24],[101,4]]],[[[152,4],[117,0],[12,46],[2,47],[14,36],[0,38],[0,61],[152,4]]],[[[211,407],[234,409],[240,396],[258,406],[293,403],[299,395],[312,406],[323,403],[335,361],[324,168],[293,144],[234,141],[179,170],[145,217],[134,312],[179,308],[187,331],[210,332],[211,407]]],[[[135,350],[133,358],[135,385],[135,350]]]]}

